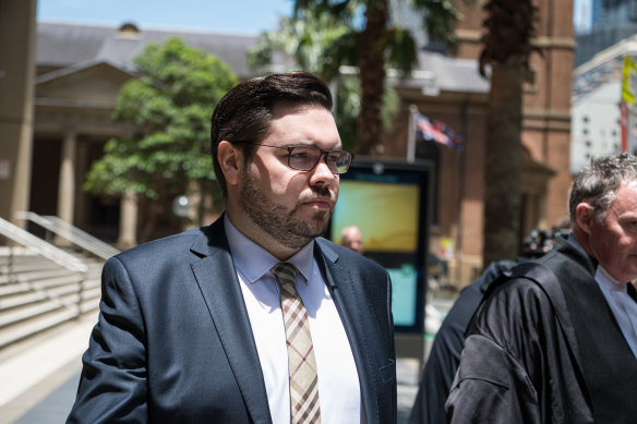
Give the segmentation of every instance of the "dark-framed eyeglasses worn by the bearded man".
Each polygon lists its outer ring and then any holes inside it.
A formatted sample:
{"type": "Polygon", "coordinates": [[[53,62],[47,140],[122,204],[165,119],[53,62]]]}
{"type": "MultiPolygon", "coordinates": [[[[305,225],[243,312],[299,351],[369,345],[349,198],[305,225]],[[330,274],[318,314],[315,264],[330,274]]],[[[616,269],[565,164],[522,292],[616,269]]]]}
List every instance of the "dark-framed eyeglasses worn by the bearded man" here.
{"type": "Polygon", "coordinates": [[[346,173],[353,160],[353,154],[346,150],[323,150],[316,146],[271,146],[253,142],[233,142],[255,146],[284,148],[288,150],[288,167],[298,171],[311,171],[322,157],[332,173],[346,173]]]}

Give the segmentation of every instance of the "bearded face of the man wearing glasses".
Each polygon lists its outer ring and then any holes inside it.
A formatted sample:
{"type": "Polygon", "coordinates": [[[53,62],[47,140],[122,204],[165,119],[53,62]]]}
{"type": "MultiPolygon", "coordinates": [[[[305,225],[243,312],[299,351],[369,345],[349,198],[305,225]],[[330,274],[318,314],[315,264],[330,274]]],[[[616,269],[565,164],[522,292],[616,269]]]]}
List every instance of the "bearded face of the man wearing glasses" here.
{"type": "MultiPolygon", "coordinates": [[[[313,145],[323,150],[341,147],[328,110],[291,104],[275,107],[271,130],[260,143],[313,145]]],[[[288,166],[287,149],[257,146],[240,180],[242,208],[277,242],[300,249],[325,232],[338,197],[338,175],[323,158],[314,169],[299,171],[288,166]]]]}

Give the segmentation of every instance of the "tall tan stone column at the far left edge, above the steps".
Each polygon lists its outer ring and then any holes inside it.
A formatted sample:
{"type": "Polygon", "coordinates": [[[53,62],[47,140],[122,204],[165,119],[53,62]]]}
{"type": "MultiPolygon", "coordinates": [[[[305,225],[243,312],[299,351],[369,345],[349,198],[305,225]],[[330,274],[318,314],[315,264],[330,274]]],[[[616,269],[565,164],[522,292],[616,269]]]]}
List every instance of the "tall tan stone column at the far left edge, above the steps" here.
{"type": "Polygon", "coordinates": [[[28,210],[36,0],[0,1],[0,217],[28,210]]]}

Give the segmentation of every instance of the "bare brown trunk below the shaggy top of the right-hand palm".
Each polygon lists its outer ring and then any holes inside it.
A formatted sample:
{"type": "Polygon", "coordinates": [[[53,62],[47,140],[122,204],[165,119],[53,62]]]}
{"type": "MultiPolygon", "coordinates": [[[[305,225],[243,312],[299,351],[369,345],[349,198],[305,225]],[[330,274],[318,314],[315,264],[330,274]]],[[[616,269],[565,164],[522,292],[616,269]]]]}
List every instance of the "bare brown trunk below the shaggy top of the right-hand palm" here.
{"type": "Polygon", "coordinates": [[[484,169],[483,266],[516,259],[521,203],[524,65],[492,63],[484,169]]]}

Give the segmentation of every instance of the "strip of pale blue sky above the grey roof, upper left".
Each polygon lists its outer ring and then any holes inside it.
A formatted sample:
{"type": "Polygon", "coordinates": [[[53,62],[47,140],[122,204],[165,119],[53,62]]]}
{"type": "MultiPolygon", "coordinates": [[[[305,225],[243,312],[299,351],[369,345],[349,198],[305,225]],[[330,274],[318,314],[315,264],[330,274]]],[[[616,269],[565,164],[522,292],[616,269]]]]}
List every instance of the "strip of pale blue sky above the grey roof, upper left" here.
{"type": "Polygon", "coordinates": [[[290,15],[292,5],[292,0],[38,0],[37,19],[256,35],[276,29],[278,16],[290,15]]]}

